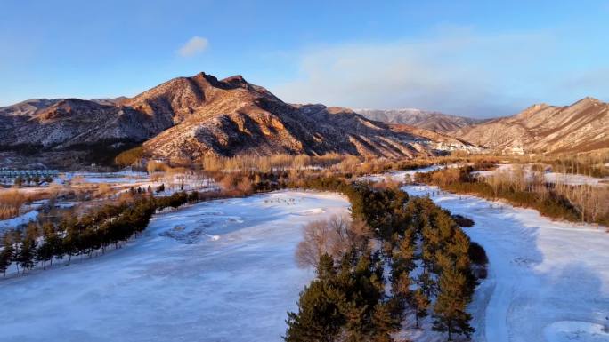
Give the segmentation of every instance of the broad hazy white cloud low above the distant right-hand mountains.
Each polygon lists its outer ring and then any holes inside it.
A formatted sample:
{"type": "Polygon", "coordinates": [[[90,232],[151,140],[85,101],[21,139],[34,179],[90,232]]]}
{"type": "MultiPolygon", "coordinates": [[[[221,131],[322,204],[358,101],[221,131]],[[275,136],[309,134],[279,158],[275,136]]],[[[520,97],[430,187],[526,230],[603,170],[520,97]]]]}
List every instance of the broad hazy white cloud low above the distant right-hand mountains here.
{"type": "MultiPolygon", "coordinates": [[[[510,115],[556,53],[548,33],[480,35],[469,29],[416,41],[341,44],[301,52],[300,76],[273,87],[290,102],[419,107],[455,115],[510,115]]],[[[539,93],[538,93],[539,95],[539,93]]]]}

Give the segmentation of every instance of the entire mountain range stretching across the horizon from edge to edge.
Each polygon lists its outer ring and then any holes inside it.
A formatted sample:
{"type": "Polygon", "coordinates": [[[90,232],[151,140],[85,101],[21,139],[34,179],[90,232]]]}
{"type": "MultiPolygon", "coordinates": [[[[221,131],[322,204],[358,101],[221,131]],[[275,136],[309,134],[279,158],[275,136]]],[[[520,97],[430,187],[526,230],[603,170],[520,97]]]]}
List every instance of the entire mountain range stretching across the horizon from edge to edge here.
{"type": "Polygon", "coordinates": [[[30,99],[0,107],[0,153],[59,154],[74,163],[80,160],[72,157],[75,151],[116,155],[139,144],[150,157],[191,161],[206,155],[328,153],[410,158],[515,146],[586,151],[609,145],[607,107],[586,98],[483,121],[418,109],[289,104],[242,76],[219,80],[199,73],[133,98],[30,99]]]}

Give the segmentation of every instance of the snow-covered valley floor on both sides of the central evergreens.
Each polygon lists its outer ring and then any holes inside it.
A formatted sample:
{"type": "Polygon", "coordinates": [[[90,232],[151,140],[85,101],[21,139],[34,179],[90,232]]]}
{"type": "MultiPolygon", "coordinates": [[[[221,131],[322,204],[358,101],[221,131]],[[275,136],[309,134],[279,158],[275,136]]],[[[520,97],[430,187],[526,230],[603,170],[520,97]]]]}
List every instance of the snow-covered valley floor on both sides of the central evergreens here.
{"type": "MultiPolygon", "coordinates": [[[[490,258],[470,306],[475,341],[609,341],[604,229],[435,187],[404,189],[475,220],[466,232],[490,258]]],[[[156,215],[123,249],[1,280],[0,341],[280,341],[286,312],[313,278],[294,258],[302,226],[348,206],[336,194],[280,191],[156,215]]]]}

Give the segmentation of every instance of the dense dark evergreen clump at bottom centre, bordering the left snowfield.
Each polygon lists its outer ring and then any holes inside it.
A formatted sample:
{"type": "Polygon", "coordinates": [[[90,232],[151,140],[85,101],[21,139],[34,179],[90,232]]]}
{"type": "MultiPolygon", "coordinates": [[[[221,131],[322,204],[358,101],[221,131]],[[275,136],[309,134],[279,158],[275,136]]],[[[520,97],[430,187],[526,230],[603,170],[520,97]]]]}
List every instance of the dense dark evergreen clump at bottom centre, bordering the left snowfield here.
{"type": "Polygon", "coordinates": [[[286,341],[392,341],[399,320],[384,302],[383,267],[369,251],[347,253],[338,265],[324,255],[318,279],[288,313],[286,341]]]}

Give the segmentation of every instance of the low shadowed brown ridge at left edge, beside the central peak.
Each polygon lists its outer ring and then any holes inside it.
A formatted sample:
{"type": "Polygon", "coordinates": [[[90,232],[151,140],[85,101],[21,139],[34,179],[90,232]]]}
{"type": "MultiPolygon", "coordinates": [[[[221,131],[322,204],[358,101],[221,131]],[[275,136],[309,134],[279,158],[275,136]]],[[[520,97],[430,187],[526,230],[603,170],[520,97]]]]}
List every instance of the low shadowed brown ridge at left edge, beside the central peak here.
{"type": "Polygon", "coordinates": [[[83,99],[21,102],[0,108],[3,147],[61,149],[103,141],[143,140],[168,128],[131,107],[83,99]]]}

